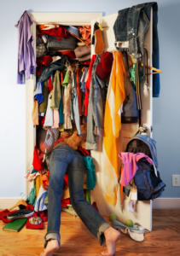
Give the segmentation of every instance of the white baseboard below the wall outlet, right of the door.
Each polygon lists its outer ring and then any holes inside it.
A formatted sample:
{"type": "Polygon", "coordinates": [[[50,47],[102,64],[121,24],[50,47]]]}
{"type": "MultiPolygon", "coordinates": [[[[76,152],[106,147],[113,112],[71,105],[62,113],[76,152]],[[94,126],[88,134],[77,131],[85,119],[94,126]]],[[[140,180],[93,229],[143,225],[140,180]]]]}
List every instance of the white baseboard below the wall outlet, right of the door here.
{"type": "Polygon", "coordinates": [[[180,198],[156,198],[153,209],[180,209],[180,198]]]}

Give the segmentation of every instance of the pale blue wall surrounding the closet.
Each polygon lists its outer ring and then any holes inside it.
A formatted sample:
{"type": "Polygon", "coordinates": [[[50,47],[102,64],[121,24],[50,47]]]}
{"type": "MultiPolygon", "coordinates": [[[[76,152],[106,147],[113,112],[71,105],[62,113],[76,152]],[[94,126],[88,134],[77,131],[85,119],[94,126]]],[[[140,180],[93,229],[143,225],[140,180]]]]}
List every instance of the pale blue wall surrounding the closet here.
{"type": "MultiPolygon", "coordinates": [[[[143,1],[144,2],[144,1],[143,1]]],[[[145,1],[148,2],[148,1],[145,1]]],[[[180,187],[171,187],[171,175],[180,174],[180,1],[159,0],[160,98],[154,99],[154,139],[159,170],[167,187],[163,197],[180,197],[180,187]]],[[[17,29],[25,10],[32,12],[117,13],[141,0],[0,0],[0,198],[25,193],[25,85],[16,84],[17,29]]],[[[1,207],[0,207],[1,208],[1,207]]]]}

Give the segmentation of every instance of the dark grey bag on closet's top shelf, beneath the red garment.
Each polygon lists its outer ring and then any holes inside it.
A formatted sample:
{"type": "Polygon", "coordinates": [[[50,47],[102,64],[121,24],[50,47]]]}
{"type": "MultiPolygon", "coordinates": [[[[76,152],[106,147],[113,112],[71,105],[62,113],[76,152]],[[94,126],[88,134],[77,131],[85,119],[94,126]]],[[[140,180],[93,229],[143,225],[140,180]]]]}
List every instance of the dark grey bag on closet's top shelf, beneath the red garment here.
{"type": "Polygon", "coordinates": [[[57,50],[57,49],[75,49],[76,48],[76,38],[72,35],[69,38],[55,38],[55,36],[48,36],[47,49],[57,50]]]}

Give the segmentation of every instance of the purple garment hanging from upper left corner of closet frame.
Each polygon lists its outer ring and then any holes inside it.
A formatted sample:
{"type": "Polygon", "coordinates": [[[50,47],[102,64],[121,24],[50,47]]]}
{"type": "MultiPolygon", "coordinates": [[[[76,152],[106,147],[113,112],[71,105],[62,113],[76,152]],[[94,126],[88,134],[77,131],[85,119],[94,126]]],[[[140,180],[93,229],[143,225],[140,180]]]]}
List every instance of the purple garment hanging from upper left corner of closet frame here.
{"type": "Polygon", "coordinates": [[[31,73],[34,74],[35,67],[37,67],[33,49],[34,38],[31,32],[32,23],[30,14],[25,11],[18,24],[15,25],[18,28],[18,84],[24,84],[24,74],[26,79],[30,79],[31,73]]]}

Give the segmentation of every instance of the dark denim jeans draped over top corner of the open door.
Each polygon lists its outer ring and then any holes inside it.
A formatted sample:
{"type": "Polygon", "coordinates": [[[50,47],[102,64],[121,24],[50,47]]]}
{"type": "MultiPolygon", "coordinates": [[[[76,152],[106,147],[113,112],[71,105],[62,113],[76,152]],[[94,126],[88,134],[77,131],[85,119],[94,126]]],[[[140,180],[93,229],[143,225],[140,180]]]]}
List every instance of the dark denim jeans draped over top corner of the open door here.
{"type": "MultiPolygon", "coordinates": [[[[117,49],[143,54],[144,34],[148,30],[151,8],[153,9],[153,67],[160,68],[160,51],[158,38],[158,4],[141,3],[118,12],[113,31],[116,41],[128,42],[117,49]]],[[[123,44],[122,44],[123,45],[123,44]]],[[[153,96],[160,96],[160,73],[153,75],[153,96]]]]}

